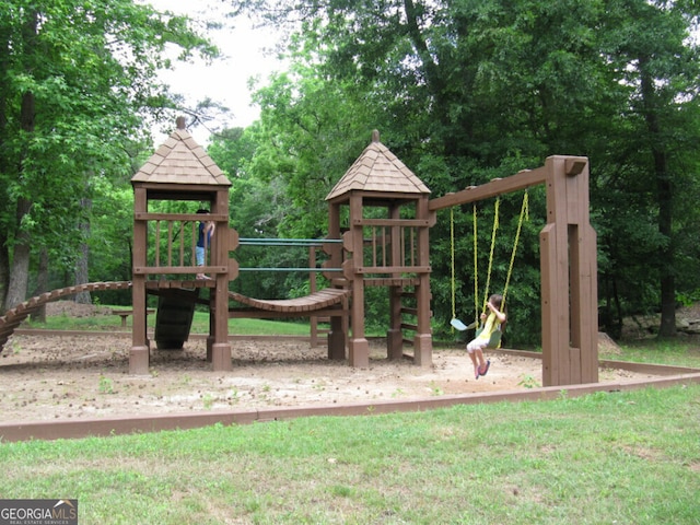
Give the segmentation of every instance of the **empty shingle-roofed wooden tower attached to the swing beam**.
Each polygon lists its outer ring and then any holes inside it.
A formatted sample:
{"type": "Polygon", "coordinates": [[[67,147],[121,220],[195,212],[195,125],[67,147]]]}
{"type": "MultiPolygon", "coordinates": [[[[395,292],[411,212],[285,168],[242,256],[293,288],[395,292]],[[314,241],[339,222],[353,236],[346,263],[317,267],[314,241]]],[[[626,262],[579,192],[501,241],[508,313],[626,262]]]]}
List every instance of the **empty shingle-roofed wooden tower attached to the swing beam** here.
{"type": "MultiPolygon", "coordinates": [[[[380,142],[375,130],[370,145],[326,197],[329,238],[341,238],[345,230],[342,249],[331,254],[330,265],[342,264],[343,279],[352,288],[349,350],[353,366],[369,365],[364,334],[368,285],[389,291],[387,357],[402,358],[402,330],[409,329],[415,331],[416,364],[432,363],[429,228],[434,217],[428,210],[429,196],[428,187],[380,142]],[[349,208],[345,215],[343,207],[349,208]],[[341,224],[341,217],[348,218],[346,224],[341,224]],[[411,319],[404,322],[402,315],[411,319]]],[[[331,326],[331,331],[336,328],[331,326]]]]}

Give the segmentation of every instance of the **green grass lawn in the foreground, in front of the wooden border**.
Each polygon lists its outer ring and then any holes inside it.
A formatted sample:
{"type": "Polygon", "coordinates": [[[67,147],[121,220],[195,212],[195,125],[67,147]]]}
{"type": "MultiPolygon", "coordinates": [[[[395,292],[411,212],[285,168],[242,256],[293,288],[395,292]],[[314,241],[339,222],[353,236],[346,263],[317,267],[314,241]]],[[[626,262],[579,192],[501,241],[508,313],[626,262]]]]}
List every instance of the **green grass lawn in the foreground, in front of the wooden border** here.
{"type": "Polygon", "coordinates": [[[700,523],[700,386],[0,445],[83,524],[700,523]]]}

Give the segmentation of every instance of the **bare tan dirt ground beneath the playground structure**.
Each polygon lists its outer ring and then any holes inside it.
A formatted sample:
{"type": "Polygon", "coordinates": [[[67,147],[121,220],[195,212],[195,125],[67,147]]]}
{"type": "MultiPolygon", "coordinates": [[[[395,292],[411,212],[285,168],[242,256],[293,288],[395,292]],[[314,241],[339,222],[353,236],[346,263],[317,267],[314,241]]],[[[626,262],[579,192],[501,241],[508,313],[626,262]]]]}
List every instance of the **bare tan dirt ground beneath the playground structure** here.
{"type": "MultiPolygon", "coordinates": [[[[95,314],[71,302],[49,306],[49,315],[95,314]]],[[[212,372],[205,340],[197,339],[182,351],[151,350],[150,374],[142,376],[128,373],[130,346],[130,332],[13,336],[0,353],[0,421],[408,400],[541,384],[539,360],[497,353],[477,381],[462,346],[433,349],[432,366],[419,368],[387,361],[384,343],[373,342],[370,366],[353,369],[328,361],[325,347],[306,341],[234,340],[233,371],[212,372]]],[[[649,377],[610,370],[599,375],[602,382],[649,377]]]]}

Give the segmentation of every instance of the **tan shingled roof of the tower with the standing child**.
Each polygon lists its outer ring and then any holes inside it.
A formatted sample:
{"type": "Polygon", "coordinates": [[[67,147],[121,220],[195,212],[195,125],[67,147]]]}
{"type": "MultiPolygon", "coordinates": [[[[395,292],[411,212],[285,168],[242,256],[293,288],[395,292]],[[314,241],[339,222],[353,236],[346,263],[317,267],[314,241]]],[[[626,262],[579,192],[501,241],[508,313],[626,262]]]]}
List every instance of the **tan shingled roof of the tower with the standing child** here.
{"type": "Polygon", "coordinates": [[[176,129],[141,166],[131,183],[231,186],[214,161],[185,129],[176,129]]]}

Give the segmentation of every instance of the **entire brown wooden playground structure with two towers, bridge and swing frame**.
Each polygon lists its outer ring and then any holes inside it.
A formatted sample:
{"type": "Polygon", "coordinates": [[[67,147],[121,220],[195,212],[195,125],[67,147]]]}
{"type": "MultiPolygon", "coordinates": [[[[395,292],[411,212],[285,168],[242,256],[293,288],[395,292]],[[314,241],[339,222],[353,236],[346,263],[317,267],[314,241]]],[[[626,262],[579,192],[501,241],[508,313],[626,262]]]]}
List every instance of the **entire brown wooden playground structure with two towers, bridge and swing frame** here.
{"type": "MultiPolygon", "coordinates": [[[[149,294],[159,298],[154,334],[159,350],[182,348],[196,304],[209,307],[207,359],[213,371],[232,370],[229,318],[233,317],[327,317],[328,358],[348,359],[351,366],[366,368],[366,287],[388,292],[387,358],[404,357],[404,334],[412,331],[413,362],[429,366],[429,232],[438,210],[545,185],[547,225],[540,233],[542,383],[556,386],[598,381],[596,236],[588,222],[585,158],[551,156],[539,168],[430,199],[430,190],[376,133],[326,197],[328,235],[314,241],[313,247],[327,254],[320,272],[329,287],[287,300],[254,299],[230,291],[230,283],[242,270],[231,253],[250,240],[238,238],[229,226],[231,183],[185,130],[183,118],[131,183],[132,281],[113,284],[130,288],[132,293],[131,374],[149,373],[149,294]],[[203,266],[197,266],[195,257],[202,215],[152,212],[149,205],[154,201],[209,205],[206,220],[217,228],[203,266]],[[208,278],[196,279],[198,273],[208,278]]],[[[105,283],[94,285],[98,284],[105,283]]],[[[33,298],[5,313],[0,318],[0,349],[30,312],[58,296],[33,298]]]]}

